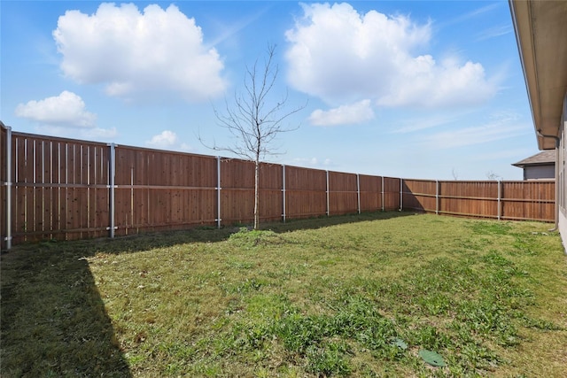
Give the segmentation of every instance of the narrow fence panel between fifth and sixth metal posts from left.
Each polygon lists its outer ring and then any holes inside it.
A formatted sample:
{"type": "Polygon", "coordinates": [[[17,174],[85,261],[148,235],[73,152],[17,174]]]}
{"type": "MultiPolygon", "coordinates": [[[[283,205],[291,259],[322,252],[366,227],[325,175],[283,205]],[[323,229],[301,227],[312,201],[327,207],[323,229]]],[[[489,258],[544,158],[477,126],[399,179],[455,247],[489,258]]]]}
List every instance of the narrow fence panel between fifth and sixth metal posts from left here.
{"type": "Polygon", "coordinates": [[[356,174],[329,172],[329,215],[358,212],[356,174]]]}

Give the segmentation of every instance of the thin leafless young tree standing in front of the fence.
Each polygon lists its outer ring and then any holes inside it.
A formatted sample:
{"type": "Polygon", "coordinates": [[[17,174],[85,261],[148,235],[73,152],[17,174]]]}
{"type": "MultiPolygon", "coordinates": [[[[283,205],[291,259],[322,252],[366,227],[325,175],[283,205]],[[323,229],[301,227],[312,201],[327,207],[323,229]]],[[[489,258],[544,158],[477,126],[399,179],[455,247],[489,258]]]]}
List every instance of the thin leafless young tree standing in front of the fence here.
{"type": "MultiPolygon", "coordinates": [[[[214,109],[219,125],[227,128],[235,137],[234,144],[217,146],[215,143],[212,147],[207,146],[213,150],[232,152],[254,162],[254,229],[258,229],[260,225],[260,159],[267,155],[277,155],[273,145],[276,136],[299,128],[286,126],[283,121],[307,106],[304,104],[285,111],[287,89],[279,101],[271,96],[279,73],[278,66],[274,63],[275,55],[276,45],[268,45],[263,67],[258,67],[258,60],[252,67],[246,66],[244,91],[235,92],[234,104],[229,105],[225,99],[225,112],[214,109]]],[[[199,140],[203,143],[200,136],[199,140]]]]}

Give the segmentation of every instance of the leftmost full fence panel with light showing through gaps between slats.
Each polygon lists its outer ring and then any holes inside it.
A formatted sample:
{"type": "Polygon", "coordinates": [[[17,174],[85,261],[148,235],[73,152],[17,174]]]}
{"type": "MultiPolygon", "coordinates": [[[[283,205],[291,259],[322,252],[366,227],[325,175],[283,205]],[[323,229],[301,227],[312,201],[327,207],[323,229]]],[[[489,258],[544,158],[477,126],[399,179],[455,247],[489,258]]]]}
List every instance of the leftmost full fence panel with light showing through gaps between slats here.
{"type": "Polygon", "coordinates": [[[12,134],[14,243],[107,235],[105,144],[12,134]]]}

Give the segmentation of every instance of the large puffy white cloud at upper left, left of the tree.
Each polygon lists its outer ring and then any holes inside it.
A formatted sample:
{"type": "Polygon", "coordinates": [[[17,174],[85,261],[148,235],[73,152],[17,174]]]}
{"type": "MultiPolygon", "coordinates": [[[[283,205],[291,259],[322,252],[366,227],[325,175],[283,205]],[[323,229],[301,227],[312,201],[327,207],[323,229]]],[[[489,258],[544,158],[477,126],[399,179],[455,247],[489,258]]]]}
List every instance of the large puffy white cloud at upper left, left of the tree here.
{"type": "Polygon", "coordinates": [[[87,15],[67,11],[53,31],[61,69],[74,81],[105,84],[109,96],[131,101],[221,95],[223,63],[203,45],[201,28],[175,5],[100,4],[87,15]]]}

